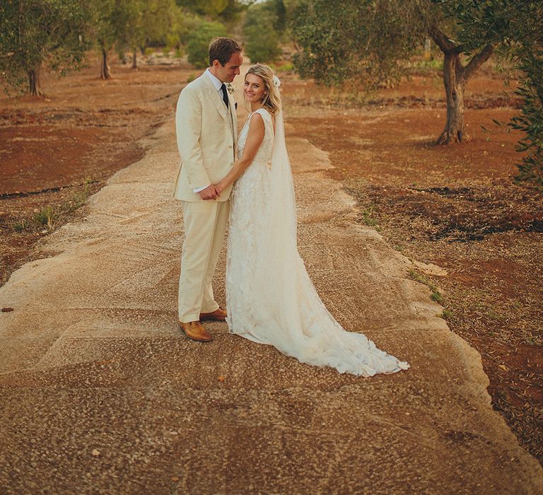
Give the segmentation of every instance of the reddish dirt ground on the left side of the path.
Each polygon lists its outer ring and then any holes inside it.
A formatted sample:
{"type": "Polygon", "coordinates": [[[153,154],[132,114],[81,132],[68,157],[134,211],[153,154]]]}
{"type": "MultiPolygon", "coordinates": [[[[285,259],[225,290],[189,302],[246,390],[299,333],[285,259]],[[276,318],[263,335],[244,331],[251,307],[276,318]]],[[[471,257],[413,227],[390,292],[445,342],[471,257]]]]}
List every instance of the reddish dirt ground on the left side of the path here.
{"type": "Polygon", "coordinates": [[[144,155],[141,139],[170,115],[190,66],[139,69],[99,60],[58,79],[42,74],[44,98],[0,94],[0,285],[39,257],[36,240],[81,214],[78,206],[115,171],[144,155]]]}

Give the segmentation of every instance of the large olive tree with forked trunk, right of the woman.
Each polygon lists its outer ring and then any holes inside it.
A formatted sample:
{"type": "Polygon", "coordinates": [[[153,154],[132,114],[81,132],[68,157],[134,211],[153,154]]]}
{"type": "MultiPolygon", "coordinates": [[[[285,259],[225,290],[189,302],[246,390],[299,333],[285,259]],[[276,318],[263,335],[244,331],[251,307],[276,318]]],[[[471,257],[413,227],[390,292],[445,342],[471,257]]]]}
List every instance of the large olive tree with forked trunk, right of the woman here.
{"type": "Polygon", "coordinates": [[[455,41],[455,19],[431,0],[302,0],[292,29],[298,44],[294,63],[301,76],[325,84],[356,79],[371,86],[399,80],[402,62],[431,37],[443,52],[447,120],[439,144],[465,139],[464,91],[494,45],[484,39],[466,50],[455,41]]]}

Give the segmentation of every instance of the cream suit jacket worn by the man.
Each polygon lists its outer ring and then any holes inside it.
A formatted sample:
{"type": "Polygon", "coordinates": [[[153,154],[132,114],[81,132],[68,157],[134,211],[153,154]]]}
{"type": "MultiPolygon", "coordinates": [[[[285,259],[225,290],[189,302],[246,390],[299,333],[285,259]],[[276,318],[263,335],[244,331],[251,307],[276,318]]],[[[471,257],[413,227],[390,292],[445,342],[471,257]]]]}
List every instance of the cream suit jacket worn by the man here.
{"type": "MultiPolygon", "coordinates": [[[[192,190],[216,184],[234,164],[238,142],[235,101],[228,94],[228,108],[205,73],[182,89],[177,100],[175,129],[181,156],[175,180],[175,199],[202,201],[192,190]]],[[[226,201],[232,187],[216,201],[226,201]]]]}

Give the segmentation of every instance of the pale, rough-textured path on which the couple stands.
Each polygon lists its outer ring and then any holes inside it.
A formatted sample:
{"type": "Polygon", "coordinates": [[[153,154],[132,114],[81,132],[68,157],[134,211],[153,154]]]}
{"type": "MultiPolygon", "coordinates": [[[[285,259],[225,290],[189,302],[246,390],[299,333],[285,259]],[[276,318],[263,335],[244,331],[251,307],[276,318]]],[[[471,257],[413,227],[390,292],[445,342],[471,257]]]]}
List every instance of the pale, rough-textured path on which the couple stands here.
{"type": "MultiPolygon", "coordinates": [[[[340,375],[222,323],[211,344],[182,336],[173,122],[149,146],[0,289],[1,493],[542,493],[479,354],[308,141],[288,140],[308,271],[344,327],[411,368],[340,375]]],[[[224,257],[222,303],[223,277],[224,257]]]]}

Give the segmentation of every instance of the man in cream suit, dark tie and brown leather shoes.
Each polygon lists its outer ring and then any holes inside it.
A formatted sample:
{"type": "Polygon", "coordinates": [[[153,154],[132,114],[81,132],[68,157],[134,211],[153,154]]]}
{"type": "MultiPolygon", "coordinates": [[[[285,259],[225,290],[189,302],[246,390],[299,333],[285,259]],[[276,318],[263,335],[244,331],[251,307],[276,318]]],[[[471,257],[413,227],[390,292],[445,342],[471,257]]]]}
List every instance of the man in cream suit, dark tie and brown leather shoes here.
{"type": "Polygon", "coordinates": [[[214,184],[234,163],[237,105],[228,86],[240,74],[242,63],[237,42],[228,37],[214,39],[209,45],[209,67],[183,88],[177,101],[175,127],[181,164],[174,197],[182,201],[185,222],[179,322],[189,339],[200,342],[213,338],[202,320],[226,320],[226,311],[214,299],[211,279],[223,245],[231,186],[219,196],[214,184]]]}

